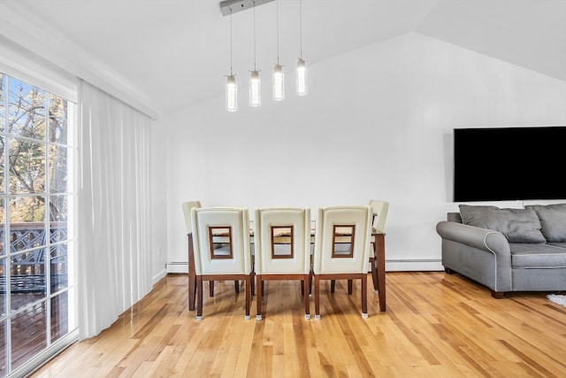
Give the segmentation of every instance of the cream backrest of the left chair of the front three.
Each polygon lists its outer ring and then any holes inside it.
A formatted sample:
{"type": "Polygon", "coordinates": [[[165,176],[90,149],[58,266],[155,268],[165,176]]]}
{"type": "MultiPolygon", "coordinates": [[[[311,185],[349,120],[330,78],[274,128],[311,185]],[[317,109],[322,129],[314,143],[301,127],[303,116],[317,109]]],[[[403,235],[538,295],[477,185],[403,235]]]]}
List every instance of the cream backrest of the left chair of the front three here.
{"type": "Polygon", "coordinates": [[[196,274],[250,274],[248,209],[193,207],[191,221],[196,274]]]}

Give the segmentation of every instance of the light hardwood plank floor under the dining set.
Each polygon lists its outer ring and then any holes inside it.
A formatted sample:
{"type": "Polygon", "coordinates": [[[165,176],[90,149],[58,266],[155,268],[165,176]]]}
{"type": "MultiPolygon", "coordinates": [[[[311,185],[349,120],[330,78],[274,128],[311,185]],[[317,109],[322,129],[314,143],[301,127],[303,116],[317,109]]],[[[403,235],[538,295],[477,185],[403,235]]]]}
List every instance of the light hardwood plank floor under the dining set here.
{"type": "Polygon", "coordinates": [[[244,320],[244,293],[204,289],[203,320],[187,309],[176,274],[100,336],[74,343],[40,377],[564,377],[566,307],[547,293],[493,299],[458,274],[388,273],[379,312],[360,289],[321,283],[322,320],[303,317],[299,282],[267,282],[264,320],[244,320]]]}

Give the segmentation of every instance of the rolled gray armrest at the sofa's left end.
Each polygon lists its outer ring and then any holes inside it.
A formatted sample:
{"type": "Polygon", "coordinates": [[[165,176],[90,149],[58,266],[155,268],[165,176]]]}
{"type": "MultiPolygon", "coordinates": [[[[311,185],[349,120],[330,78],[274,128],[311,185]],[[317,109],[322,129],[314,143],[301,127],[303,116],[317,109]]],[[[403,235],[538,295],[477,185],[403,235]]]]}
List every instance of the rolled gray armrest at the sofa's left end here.
{"type": "Polygon", "coordinates": [[[494,292],[511,290],[511,249],[503,234],[447,220],[440,221],[436,231],[442,237],[445,268],[494,292]]]}

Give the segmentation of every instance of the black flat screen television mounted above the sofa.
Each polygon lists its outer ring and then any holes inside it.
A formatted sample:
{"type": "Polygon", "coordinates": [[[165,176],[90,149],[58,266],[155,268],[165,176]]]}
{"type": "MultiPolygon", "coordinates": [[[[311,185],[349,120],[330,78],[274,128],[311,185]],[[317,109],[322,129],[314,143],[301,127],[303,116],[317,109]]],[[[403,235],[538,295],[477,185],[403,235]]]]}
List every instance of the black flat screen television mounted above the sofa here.
{"type": "Polygon", "coordinates": [[[454,202],[566,199],[566,126],[454,129],[454,202]]]}

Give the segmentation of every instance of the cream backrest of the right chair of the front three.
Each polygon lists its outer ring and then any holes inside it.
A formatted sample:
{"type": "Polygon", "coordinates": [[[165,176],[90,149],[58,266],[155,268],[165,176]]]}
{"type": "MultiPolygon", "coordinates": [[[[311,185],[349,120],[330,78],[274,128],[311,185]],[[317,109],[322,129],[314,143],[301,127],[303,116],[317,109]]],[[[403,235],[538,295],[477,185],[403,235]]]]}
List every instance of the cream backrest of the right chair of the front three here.
{"type": "Polygon", "coordinates": [[[371,251],[371,214],[369,205],[318,208],[315,274],[367,273],[371,251]]]}

